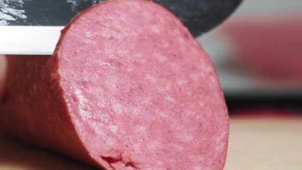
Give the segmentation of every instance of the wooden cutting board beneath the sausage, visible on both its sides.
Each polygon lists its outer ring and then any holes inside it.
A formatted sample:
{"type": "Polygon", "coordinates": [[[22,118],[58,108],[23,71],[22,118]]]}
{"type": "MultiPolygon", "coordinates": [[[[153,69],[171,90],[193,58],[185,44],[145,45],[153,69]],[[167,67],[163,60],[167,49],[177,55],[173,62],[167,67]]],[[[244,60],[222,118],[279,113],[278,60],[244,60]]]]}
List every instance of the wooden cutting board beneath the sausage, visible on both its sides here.
{"type": "MultiPolygon", "coordinates": [[[[0,170],[93,170],[0,137],[0,170]]],[[[231,119],[225,170],[302,170],[302,119],[231,119]]]]}

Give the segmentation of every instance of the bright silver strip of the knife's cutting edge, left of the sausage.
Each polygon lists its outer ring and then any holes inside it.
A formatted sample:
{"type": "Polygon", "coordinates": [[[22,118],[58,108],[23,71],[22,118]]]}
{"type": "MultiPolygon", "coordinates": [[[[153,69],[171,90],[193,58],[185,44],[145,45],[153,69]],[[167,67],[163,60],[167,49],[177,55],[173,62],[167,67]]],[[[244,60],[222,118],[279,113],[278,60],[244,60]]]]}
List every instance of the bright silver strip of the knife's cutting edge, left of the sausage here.
{"type": "Polygon", "coordinates": [[[0,26],[0,54],[52,55],[63,26],[0,26]]]}

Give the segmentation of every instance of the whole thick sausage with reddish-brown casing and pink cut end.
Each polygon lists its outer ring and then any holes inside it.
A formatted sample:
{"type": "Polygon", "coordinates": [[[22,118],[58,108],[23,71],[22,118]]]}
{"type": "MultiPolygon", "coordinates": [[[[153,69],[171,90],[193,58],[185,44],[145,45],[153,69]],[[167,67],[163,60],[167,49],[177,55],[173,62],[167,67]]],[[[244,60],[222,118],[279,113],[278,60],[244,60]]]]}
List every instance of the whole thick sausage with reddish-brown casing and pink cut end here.
{"type": "Polygon", "coordinates": [[[213,64],[147,0],[80,12],[53,56],[8,56],[0,129],[106,170],[222,170],[228,116],[213,64]]]}

